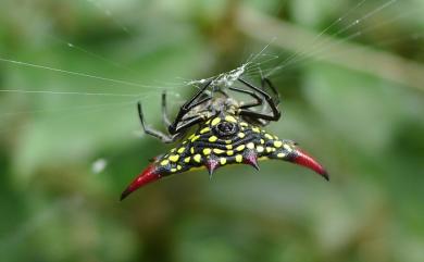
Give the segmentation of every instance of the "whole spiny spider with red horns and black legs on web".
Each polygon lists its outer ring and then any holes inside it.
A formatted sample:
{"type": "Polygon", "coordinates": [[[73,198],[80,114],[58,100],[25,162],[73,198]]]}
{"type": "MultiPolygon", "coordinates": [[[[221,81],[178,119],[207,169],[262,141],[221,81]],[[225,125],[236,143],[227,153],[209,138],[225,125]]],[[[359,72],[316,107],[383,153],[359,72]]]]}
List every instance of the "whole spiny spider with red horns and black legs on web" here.
{"type": "Polygon", "coordinates": [[[207,167],[212,176],[217,167],[240,163],[259,171],[258,160],[267,159],[303,165],[328,179],[323,166],[299,149],[296,142],[279,139],[262,129],[271,121],[280,118],[279,95],[271,80],[262,78],[260,88],[241,77],[237,78],[237,83],[245,88],[232,85],[224,89],[214,80],[207,82],[180,107],[173,122],[167,115],[166,93],[163,92],[162,120],[169,134],[145,124],[141,103],[138,102],[138,114],[146,134],[166,144],[182,141],[167,153],[154,158],[123,191],[121,200],[139,187],[172,174],[207,167]],[[228,90],[250,96],[252,101],[238,101],[228,95],[228,90]],[[194,126],[197,130],[183,139],[194,126]]]}

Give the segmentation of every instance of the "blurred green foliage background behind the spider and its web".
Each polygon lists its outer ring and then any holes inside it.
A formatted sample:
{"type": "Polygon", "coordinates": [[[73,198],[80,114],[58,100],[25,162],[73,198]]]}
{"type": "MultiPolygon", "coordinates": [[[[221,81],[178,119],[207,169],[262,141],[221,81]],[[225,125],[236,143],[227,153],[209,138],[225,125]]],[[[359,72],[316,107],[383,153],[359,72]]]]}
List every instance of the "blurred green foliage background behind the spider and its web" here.
{"type": "Polygon", "coordinates": [[[423,0],[2,0],[0,261],[424,261],[424,83],[403,67],[424,75],[423,10],[423,0]],[[252,14],[261,29],[244,25],[252,14]],[[295,29],[259,34],[284,26],[295,29]],[[361,55],[333,53],[323,30],[334,47],[401,63],[373,60],[389,79],[333,63],[361,55]],[[269,129],[315,155],[331,183],[262,162],[211,180],[175,175],[119,202],[170,148],[142,135],[137,100],[160,126],[162,90],[175,114],[195,90],[185,80],[270,42],[258,60],[272,70],[294,54],[278,39],[304,32],[316,41],[271,75],[284,117],[269,129]]]}

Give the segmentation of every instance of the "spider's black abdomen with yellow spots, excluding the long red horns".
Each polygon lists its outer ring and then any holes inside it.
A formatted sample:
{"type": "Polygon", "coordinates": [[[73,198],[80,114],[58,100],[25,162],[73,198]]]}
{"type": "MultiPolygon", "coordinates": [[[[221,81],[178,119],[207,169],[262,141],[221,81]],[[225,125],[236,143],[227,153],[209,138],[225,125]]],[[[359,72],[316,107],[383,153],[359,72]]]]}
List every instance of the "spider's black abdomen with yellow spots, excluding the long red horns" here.
{"type": "Polygon", "coordinates": [[[210,173],[227,164],[246,163],[258,167],[258,159],[291,158],[294,142],[278,139],[236,115],[224,114],[199,125],[198,130],[155,160],[164,175],[207,167],[210,173]]]}

